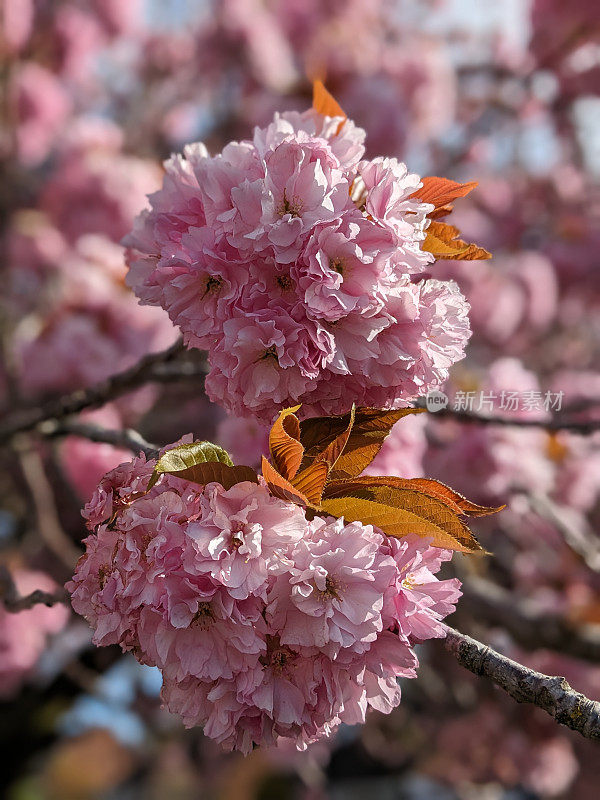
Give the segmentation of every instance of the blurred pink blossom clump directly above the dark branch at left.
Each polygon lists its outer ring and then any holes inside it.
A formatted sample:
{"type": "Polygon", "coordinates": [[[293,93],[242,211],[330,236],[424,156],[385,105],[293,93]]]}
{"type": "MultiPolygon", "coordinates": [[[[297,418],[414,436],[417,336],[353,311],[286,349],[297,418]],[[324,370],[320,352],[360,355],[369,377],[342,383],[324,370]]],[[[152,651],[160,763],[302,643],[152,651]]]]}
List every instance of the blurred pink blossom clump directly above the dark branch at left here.
{"type": "MultiPolygon", "coordinates": [[[[57,247],[60,239],[44,236],[57,253],[50,253],[52,268],[36,275],[38,307],[23,318],[13,342],[26,393],[97,382],[174,341],[176,332],[166,314],[141,307],[123,286],[118,245],[103,236],[85,236],[75,249],[62,250],[57,247]]],[[[18,264],[14,267],[18,275],[18,264]]]]}

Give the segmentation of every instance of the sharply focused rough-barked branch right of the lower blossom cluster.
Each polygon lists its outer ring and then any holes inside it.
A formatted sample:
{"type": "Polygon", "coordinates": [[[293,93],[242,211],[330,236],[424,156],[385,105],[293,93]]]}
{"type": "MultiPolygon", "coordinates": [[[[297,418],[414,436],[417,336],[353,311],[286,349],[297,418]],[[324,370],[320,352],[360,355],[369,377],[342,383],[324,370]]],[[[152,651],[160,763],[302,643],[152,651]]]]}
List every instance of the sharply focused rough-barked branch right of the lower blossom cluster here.
{"type": "Polygon", "coordinates": [[[572,689],[565,678],[544,675],[453,628],[446,650],[474,675],[485,675],[518,703],[532,703],[586,739],[600,741],[600,703],[572,689]]]}

